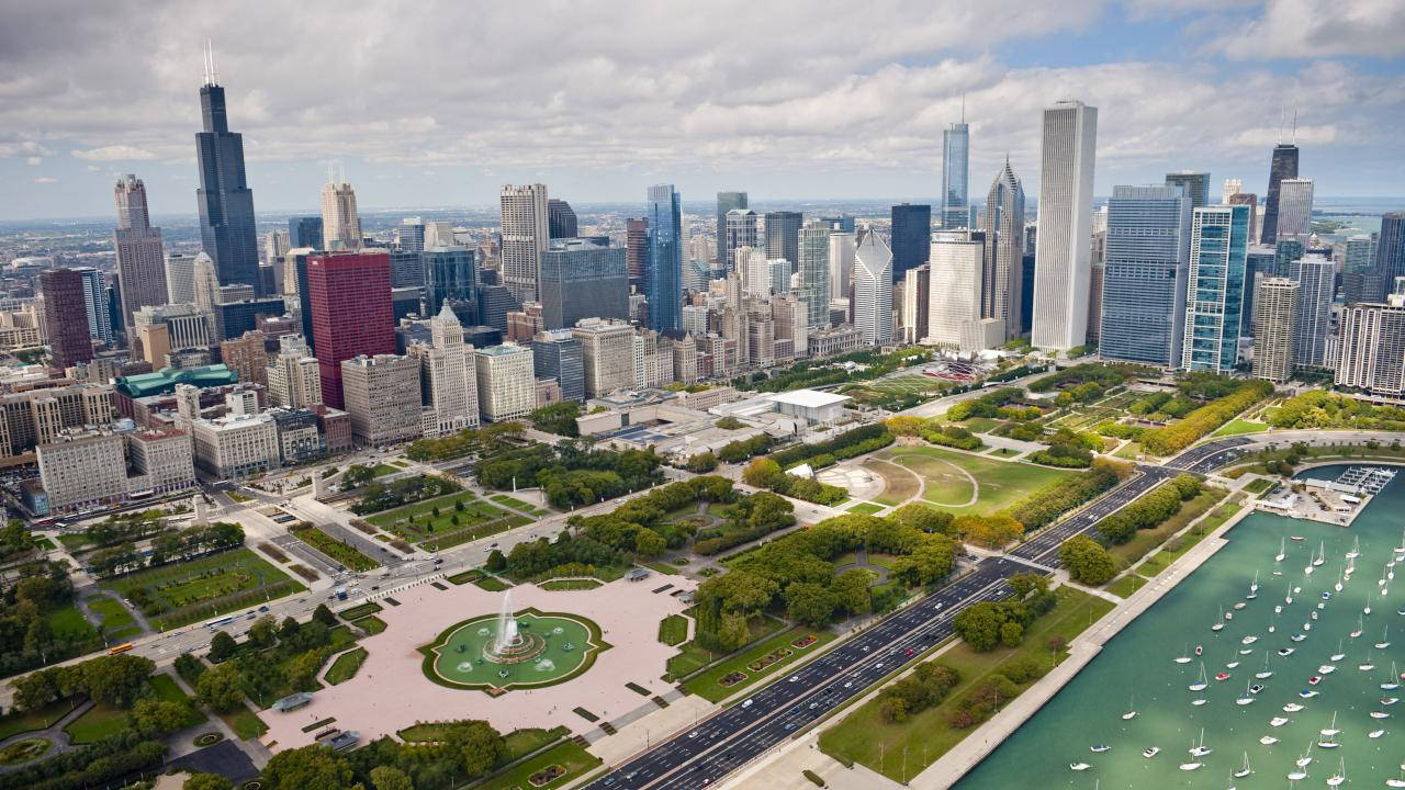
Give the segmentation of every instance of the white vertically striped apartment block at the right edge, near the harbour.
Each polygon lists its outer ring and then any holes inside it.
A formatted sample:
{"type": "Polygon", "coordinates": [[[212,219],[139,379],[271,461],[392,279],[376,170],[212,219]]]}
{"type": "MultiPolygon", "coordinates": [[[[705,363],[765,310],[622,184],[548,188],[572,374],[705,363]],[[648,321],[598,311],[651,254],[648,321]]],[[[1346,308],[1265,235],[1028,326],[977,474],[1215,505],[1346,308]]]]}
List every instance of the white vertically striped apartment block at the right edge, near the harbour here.
{"type": "Polygon", "coordinates": [[[1338,347],[1338,387],[1405,396],[1405,294],[1390,294],[1384,304],[1346,305],[1338,347]]]}

